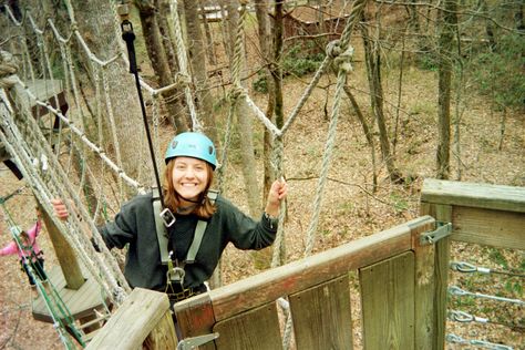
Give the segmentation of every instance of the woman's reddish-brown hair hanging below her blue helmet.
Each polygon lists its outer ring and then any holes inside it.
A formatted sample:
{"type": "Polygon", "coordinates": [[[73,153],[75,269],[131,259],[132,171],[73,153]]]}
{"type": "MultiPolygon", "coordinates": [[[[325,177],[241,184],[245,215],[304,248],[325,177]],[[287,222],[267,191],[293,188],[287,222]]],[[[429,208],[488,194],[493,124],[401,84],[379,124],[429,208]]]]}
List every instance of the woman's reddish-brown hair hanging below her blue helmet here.
{"type": "MultiPolygon", "coordinates": [[[[192,214],[197,215],[199,218],[208,219],[214,215],[217,209],[215,205],[209,200],[207,194],[214,181],[214,169],[209,163],[206,163],[206,171],[208,172],[208,183],[204,191],[199,194],[197,199],[197,206],[193,209],[192,214]]],[[[173,187],[173,167],[175,165],[175,158],[169,159],[164,171],[164,204],[173,212],[177,213],[177,208],[181,207],[182,197],[173,187]]]]}

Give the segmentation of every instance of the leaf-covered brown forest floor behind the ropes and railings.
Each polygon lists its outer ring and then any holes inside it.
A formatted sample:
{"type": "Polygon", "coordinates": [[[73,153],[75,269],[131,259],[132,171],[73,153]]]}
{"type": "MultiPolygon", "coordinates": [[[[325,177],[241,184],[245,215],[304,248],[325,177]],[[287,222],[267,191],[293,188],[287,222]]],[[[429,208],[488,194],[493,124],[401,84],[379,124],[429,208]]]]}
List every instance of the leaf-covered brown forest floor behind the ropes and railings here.
{"type": "MultiPolygon", "coordinates": [[[[362,69],[362,68],[361,68],[362,69]]],[[[393,74],[392,74],[393,75],[393,74]]],[[[384,76],[388,101],[397,101],[397,76],[384,76]]],[[[328,121],[323,113],[325,102],[331,107],[334,79],[321,81],[309,103],[285,137],[285,173],[289,184],[286,219],[287,261],[302,257],[306,231],[311,218],[312,202],[318,189],[320,166],[327,138],[328,121]]],[[[367,86],[364,74],[357,70],[350,74],[351,86],[367,86]]],[[[395,150],[397,166],[411,181],[392,184],[388,179],[384,166],[379,164],[377,192],[372,192],[372,166],[370,148],[366,142],[361,125],[350,111],[347,102],[341,104],[337,142],[329,169],[329,181],[323,189],[322,210],[315,253],[327,250],[341,244],[372,235],[418,217],[419,197],[425,178],[435,175],[436,134],[436,74],[430,71],[409,69],[404,75],[402,113],[399,116],[399,142],[395,150]]],[[[285,84],[285,115],[288,115],[305,89],[305,81],[288,79],[285,84]]],[[[368,96],[354,89],[358,102],[364,109],[368,96]]],[[[254,100],[265,105],[265,95],[255,94],[254,100]]],[[[498,150],[501,114],[491,112],[491,106],[474,93],[464,96],[464,109],[460,123],[461,162],[452,156],[451,179],[512,186],[525,186],[525,117],[523,111],[507,114],[502,150],[498,150]],[[461,164],[460,167],[457,164],[461,164]]],[[[387,104],[385,113],[390,120],[395,116],[393,104],[387,104]]],[[[264,110],[261,107],[261,110],[264,110]]],[[[368,113],[369,111],[364,111],[368,113]]],[[[256,128],[256,153],[261,154],[261,126],[254,121],[256,128]]],[[[391,124],[391,130],[393,125],[391,124]]],[[[166,135],[172,133],[166,131],[166,135]]],[[[239,136],[234,137],[234,144],[239,136]]],[[[378,158],[379,148],[375,150],[378,158]]],[[[238,154],[230,153],[226,175],[225,194],[247,212],[244,181],[239,167],[238,154]]],[[[259,159],[260,161],[260,159],[259,159]]],[[[259,162],[260,163],[260,162],[259,162]]],[[[379,162],[378,162],[379,163],[379,162]]],[[[260,178],[260,177],[259,177],[260,178]]],[[[3,165],[0,166],[1,196],[22,187],[3,165]]],[[[35,220],[34,202],[29,188],[9,199],[7,207],[17,223],[30,227],[35,220]]],[[[9,243],[10,237],[4,220],[0,220],[0,246],[9,243]]],[[[53,247],[47,231],[40,238],[45,251],[45,266],[56,265],[53,247]]],[[[490,249],[475,245],[453,247],[453,259],[469,261],[495,269],[507,269],[524,274],[525,256],[523,251],[490,249]]],[[[224,282],[230,284],[244,277],[255,275],[250,254],[227,248],[224,255],[224,282]]],[[[20,270],[16,257],[0,258],[0,350],[2,349],[60,349],[62,348],[53,326],[34,321],[31,315],[33,298],[25,275],[20,270]]],[[[464,277],[451,272],[451,284],[464,277]]],[[[508,298],[523,299],[523,278],[490,276],[474,278],[469,285],[472,291],[491,295],[501,294],[508,298]]],[[[478,301],[473,301],[478,303],[478,301]]],[[[480,307],[481,309],[481,307],[480,307]]],[[[449,331],[465,339],[478,339],[501,342],[524,349],[525,311],[523,307],[503,307],[497,303],[484,305],[483,312],[502,325],[456,325],[450,323],[449,331]],[[511,326],[511,327],[509,327],[511,326]]],[[[477,315],[480,317],[482,315],[477,315]]],[[[359,313],[353,315],[359,320],[359,313]]],[[[486,317],[486,316],[485,316],[486,317]]],[[[360,334],[354,334],[360,343],[360,334]]],[[[447,346],[456,349],[454,346],[447,346]]]]}

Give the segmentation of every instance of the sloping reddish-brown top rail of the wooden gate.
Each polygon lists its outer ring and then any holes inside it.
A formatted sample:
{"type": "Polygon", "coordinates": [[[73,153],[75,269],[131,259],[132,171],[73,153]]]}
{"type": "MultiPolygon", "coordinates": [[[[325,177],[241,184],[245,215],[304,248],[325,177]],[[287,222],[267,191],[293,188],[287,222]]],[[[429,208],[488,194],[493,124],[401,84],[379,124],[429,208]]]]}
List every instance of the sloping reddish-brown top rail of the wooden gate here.
{"type": "Polygon", "coordinates": [[[209,291],[216,321],[333,279],[349,270],[408,251],[411,230],[433,222],[420,217],[311,257],[209,291]]]}

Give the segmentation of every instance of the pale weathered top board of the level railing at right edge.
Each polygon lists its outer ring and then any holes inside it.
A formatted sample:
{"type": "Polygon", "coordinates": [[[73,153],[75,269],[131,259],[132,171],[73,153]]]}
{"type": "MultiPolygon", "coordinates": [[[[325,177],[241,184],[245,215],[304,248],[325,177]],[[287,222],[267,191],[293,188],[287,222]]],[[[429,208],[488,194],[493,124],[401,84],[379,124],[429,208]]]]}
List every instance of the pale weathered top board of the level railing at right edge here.
{"type": "Polygon", "coordinates": [[[525,187],[426,178],[421,202],[525,213],[525,187]]]}

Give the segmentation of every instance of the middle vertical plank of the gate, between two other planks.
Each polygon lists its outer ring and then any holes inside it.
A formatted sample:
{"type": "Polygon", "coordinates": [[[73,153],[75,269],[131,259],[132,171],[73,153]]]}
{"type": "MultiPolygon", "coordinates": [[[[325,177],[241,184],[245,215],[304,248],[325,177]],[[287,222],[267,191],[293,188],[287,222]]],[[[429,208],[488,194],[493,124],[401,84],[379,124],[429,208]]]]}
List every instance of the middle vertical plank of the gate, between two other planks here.
{"type": "Polygon", "coordinates": [[[289,297],[297,349],[352,349],[348,274],[289,297]]]}

